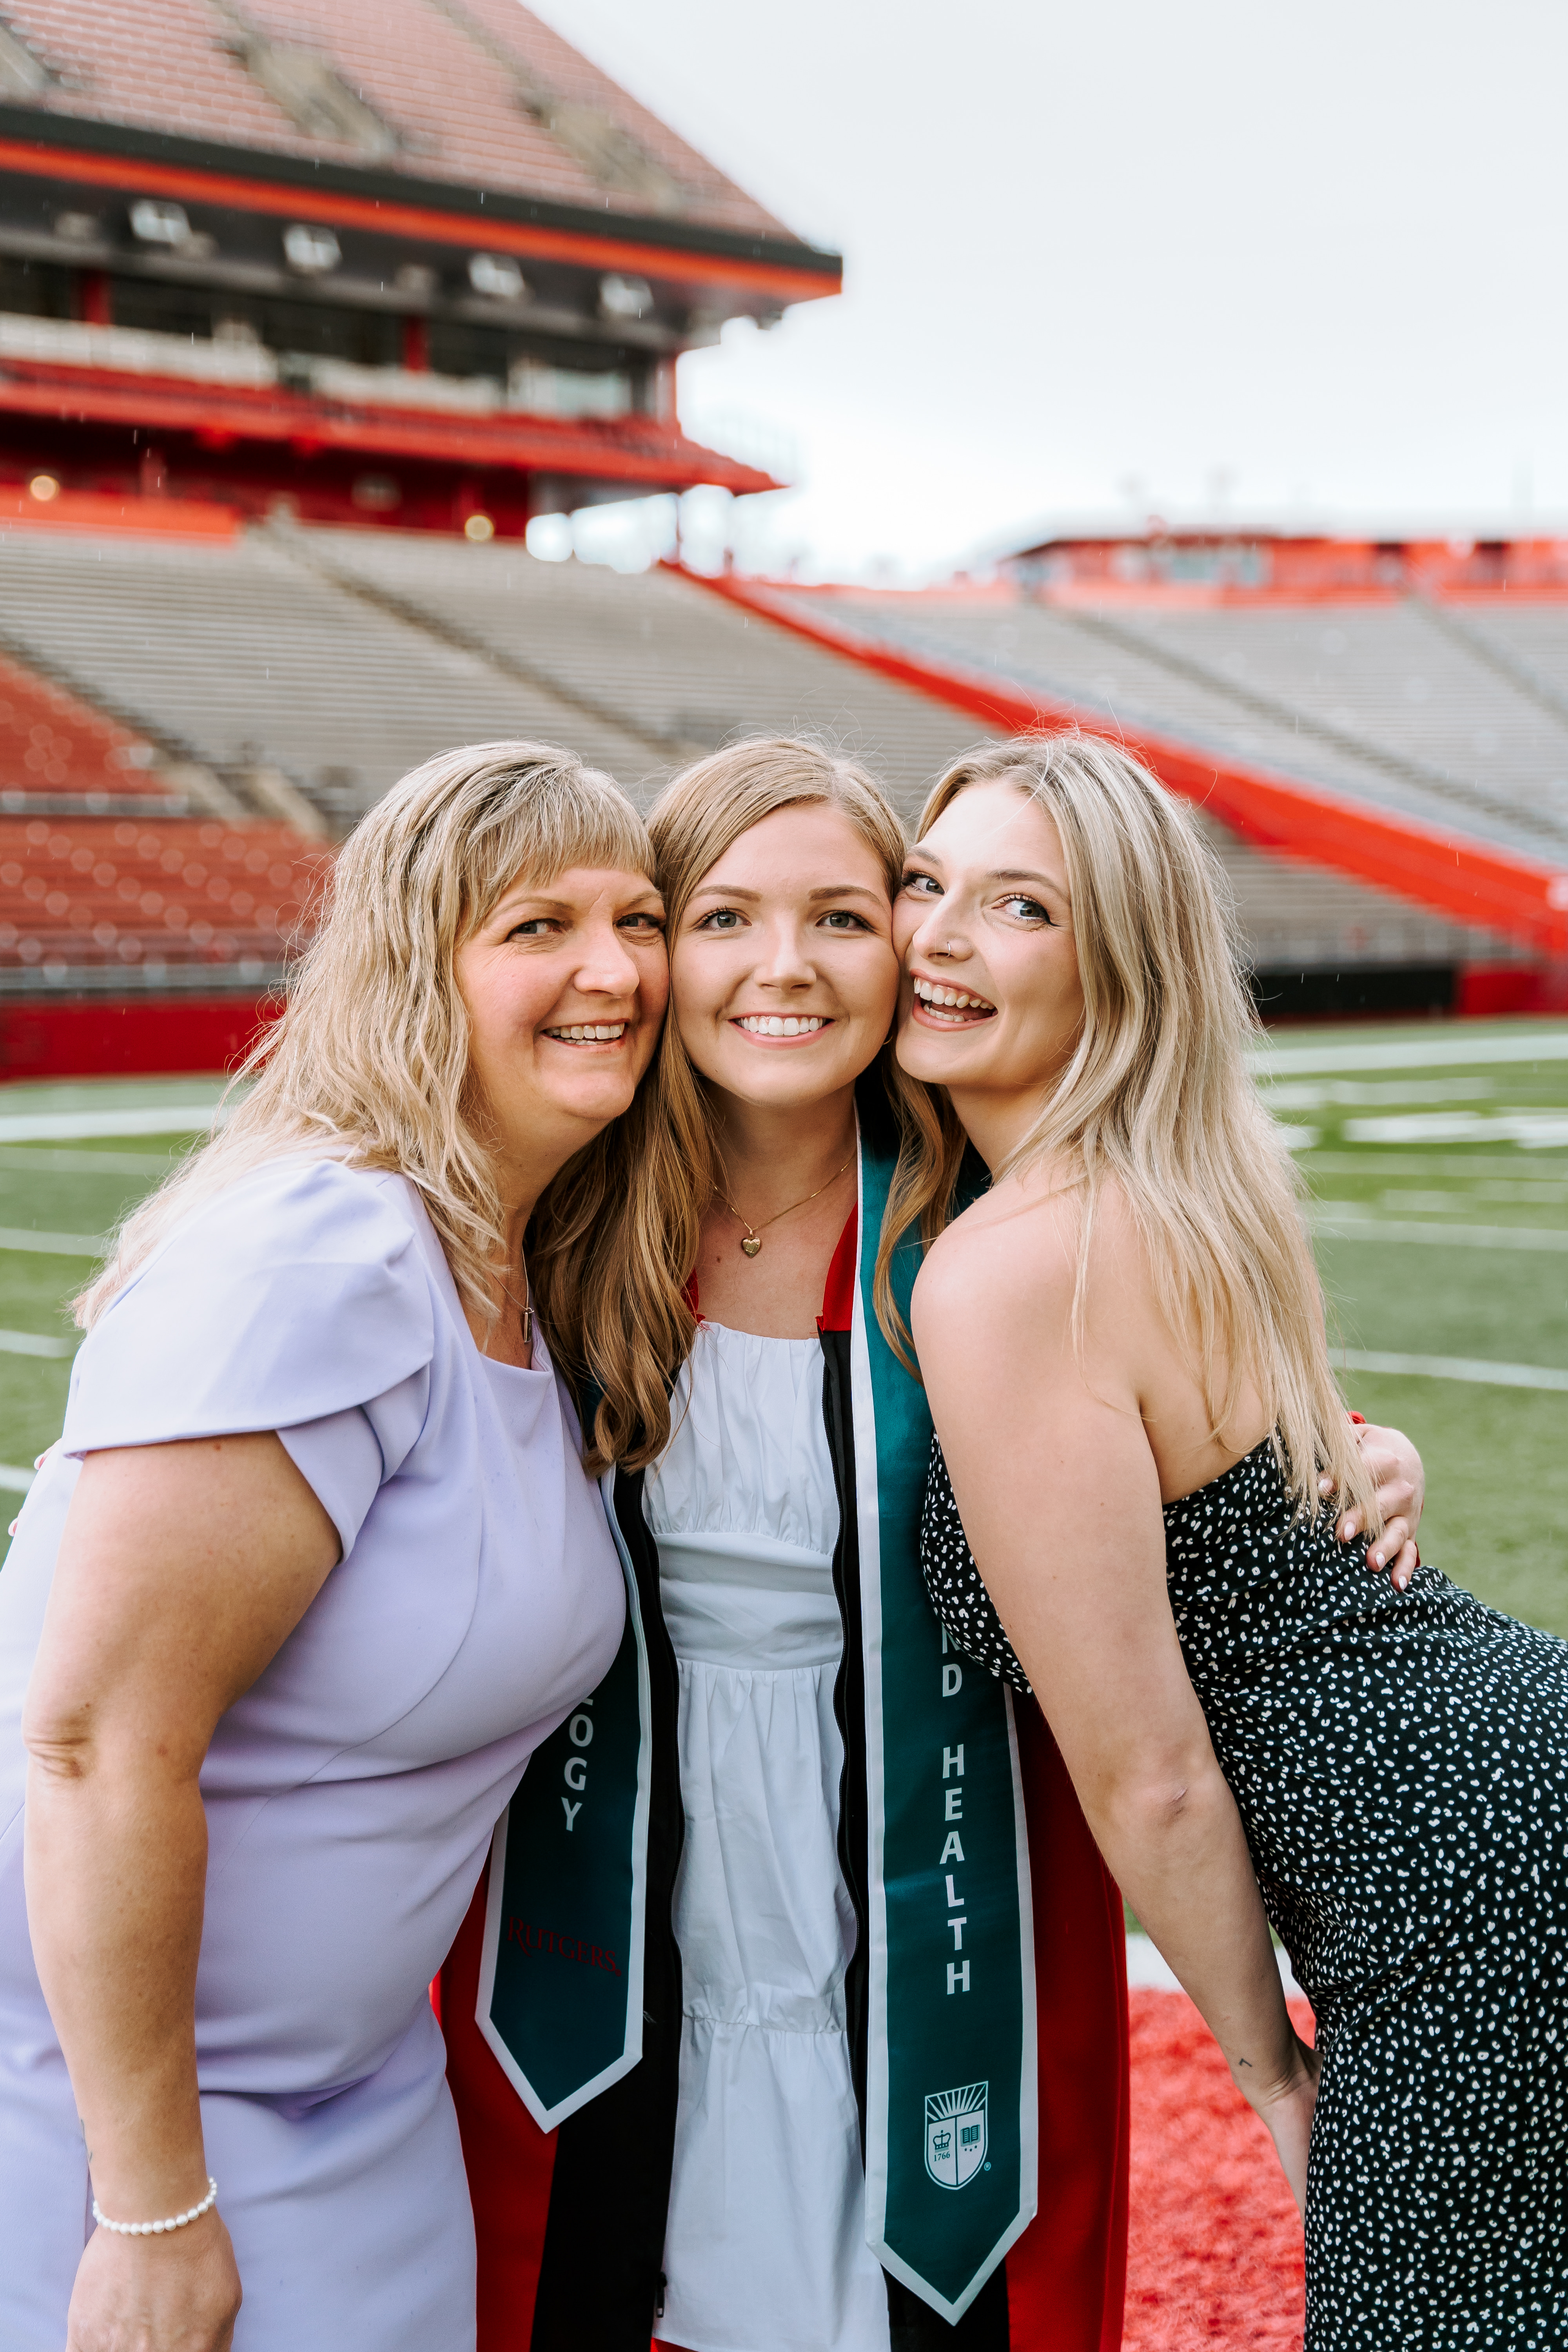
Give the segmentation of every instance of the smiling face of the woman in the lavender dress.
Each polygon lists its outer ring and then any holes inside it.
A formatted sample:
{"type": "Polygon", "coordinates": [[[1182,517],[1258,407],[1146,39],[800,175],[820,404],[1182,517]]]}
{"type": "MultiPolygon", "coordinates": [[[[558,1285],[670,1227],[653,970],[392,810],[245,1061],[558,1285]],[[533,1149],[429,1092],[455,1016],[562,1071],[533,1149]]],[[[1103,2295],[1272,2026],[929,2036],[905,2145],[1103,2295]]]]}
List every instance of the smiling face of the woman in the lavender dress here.
{"type": "Polygon", "coordinates": [[[503,1190],[527,1197],[621,1117],[654,1056],[663,901],[639,873],[571,868],[548,889],[520,875],[454,969],[503,1190]]]}

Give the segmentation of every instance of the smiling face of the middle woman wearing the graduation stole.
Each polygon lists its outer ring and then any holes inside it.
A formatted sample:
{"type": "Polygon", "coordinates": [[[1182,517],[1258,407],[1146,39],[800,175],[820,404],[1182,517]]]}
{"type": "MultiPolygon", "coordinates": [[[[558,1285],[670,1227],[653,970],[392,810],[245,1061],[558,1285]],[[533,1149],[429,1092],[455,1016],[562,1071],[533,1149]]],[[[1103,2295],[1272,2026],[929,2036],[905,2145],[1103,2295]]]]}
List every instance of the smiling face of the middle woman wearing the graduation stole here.
{"type": "Polygon", "coordinates": [[[682,1044],[724,1094],[790,1108],[853,1087],[898,1002],[882,858],[830,802],[776,809],[693,889],[670,985],[682,1044]]]}

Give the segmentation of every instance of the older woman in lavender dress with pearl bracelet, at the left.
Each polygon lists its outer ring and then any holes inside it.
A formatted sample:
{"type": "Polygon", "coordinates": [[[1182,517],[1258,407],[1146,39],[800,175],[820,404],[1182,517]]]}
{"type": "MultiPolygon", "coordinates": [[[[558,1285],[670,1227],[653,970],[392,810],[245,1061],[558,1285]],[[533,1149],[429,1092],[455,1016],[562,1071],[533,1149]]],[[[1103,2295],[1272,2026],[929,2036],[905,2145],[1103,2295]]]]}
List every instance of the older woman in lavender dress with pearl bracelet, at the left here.
{"type": "Polygon", "coordinates": [[[609,779],[430,760],[80,1303],[0,1581],[7,2352],[473,2343],[425,1987],[625,1623],[522,1232],[665,985],[609,779]]]}

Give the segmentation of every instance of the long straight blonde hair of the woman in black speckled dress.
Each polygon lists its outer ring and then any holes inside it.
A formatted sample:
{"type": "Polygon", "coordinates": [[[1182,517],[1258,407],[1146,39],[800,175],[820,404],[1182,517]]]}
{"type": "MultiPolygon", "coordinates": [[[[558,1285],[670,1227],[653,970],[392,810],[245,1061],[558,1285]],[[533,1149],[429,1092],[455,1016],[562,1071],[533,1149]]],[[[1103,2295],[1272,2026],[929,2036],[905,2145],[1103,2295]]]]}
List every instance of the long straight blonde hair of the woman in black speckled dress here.
{"type": "MultiPolygon", "coordinates": [[[[1161,1310],[1192,1348],[1213,1435],[1253,1383],[1298,1510],[1316,1510],[1326,1470],[1375,1534],[1373,1482],[1328,1364],[1298,1176],[1246,1065],[1262,1030],[1225,875],[1187,809],[1100,736],[1020,736],[969,753],[926,800],[919,833],[978,783],[1016,783],[1039,802],[1067,861],[1084,1025],[997,1176],[1046,1157],[1077,1169],[1074,1343],[1095,1200],[1112,1181],[1161,1310]]],[[[957,1117],[938,1101],[931,1127],[905,1145],[884,1258],[917,1218],[926,1232],[940,1228],[959,1157],[957,1117]]]]}

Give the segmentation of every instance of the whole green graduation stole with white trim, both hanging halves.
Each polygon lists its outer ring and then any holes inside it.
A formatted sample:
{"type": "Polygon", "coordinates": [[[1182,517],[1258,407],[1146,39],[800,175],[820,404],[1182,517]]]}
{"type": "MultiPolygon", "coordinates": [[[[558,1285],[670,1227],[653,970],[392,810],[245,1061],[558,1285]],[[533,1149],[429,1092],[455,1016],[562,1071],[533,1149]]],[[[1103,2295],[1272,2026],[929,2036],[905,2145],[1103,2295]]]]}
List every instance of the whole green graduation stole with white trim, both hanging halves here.
{"type": "MultiPolygon", "coordinates": [[[[849,1350],[870,1799],[865,2234],[957,2321],[1037,2211],[1030,1849],[1011,1693],[950,1649],[919,1571],[931,1416],[872,1308],[891,1174],[863,1131],[849,1350]]],[[[907,1240],[893,1261],[905,1315],[917,1270],[907,1240]]],[[[543,2129],[642,2051],[649,1675],[611,1479],[604,1496],[625,1639],[534,1755],[491,1853],[477,2020],[543,2129]]]]}

